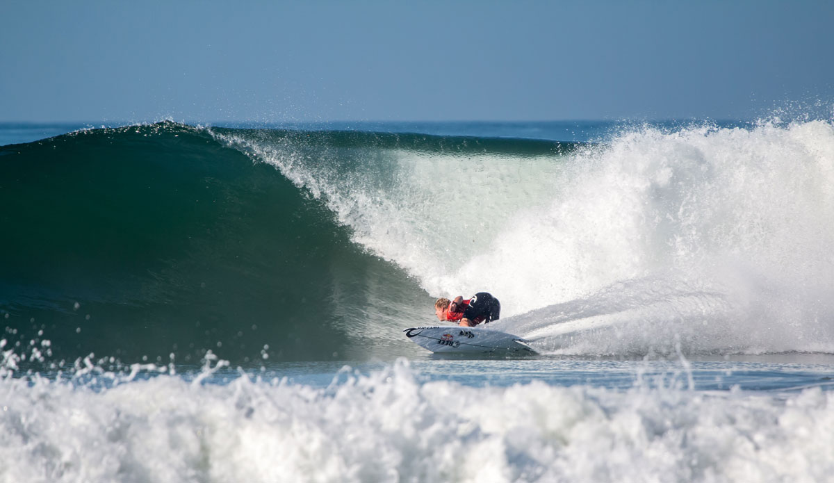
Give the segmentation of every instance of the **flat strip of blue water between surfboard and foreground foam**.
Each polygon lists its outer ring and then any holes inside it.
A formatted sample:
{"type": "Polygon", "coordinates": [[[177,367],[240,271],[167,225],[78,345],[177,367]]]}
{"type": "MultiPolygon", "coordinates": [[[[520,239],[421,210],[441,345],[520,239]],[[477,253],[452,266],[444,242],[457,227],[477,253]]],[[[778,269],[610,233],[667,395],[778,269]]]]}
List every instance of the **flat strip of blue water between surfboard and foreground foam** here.
{"type": "MultiPolygon", "coordinates": [[[[692,391],[762,391],[789,395],[809,387],[834,389],[831,355],[767,355],[734,360],[610,360],[576,357],[501,358],[415,357],[409,360],[420,383],[450,381],[472,387],[506,388],[536,381],[562,387],[590,386],[610,390],[635,387],[672,387],[692,391]]],[[[727,358],[730,359],[730,358],[727,358]]],[[[250,376],[300,385],[339,385],[349,375],[368,376],[385,370],[391,362],[307,362],[265,365],[250,376]]],[[[193,371],[186,371],[192,373],[193,371]]],[[[237,370],[220,370],[212,381],[227,383],[239,377],[237,370]]]]}

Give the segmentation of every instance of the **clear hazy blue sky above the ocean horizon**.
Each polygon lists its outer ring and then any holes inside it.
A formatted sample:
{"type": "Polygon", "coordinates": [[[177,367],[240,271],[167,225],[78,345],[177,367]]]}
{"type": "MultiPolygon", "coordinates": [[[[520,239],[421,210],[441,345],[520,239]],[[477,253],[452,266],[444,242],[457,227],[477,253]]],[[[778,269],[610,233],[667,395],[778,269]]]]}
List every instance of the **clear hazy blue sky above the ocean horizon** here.
{"type": "Polygon", "coordinates": [[[0,121],[831,111],[834,2],[0,4],[0,121]]]}

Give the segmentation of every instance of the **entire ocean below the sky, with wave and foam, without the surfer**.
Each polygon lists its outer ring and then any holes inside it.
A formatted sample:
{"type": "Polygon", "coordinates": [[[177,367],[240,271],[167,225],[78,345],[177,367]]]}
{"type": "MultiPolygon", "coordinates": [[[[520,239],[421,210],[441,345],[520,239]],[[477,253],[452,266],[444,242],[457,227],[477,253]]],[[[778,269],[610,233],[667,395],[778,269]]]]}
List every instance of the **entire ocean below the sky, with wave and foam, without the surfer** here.
{"type": "Polygon", "coordinates": [[[830,119],[0,144],[0,481],[834,481],[830,119]]]}

